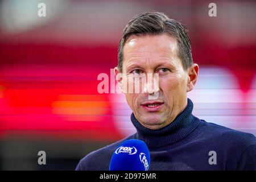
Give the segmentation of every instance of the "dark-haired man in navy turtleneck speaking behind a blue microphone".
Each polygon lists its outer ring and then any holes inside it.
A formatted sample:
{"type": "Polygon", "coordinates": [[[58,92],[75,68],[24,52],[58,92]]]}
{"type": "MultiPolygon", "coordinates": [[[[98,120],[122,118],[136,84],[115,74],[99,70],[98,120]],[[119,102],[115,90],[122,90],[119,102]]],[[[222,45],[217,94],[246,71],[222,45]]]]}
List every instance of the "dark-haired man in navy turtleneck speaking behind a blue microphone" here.
{"type": "Polygon", "coordinates": [[[192,115],[187,92],[196,84],[199,65],[193,64],[191,42],[181,23],[163,13],[135,16],[123,31],[114,72],[121,90],[135,84],[131,80],[136,76],[155,75],[141,84],[141,92],[125,94],[137,133],[91,152],[76,170],[109,170],[113,152],[127,139],[147,144],[150,170],[256,170],[253,134],[192,115]],[[156,81],[158,86],[153,86],[156,81]]]}

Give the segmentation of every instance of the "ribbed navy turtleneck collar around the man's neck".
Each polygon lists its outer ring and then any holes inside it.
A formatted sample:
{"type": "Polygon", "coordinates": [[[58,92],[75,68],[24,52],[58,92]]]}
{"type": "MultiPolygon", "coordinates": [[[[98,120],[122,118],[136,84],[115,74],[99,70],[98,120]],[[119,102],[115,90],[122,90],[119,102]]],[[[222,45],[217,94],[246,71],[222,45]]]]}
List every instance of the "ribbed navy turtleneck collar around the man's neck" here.
{"type": "Polygon", "coordinates": [[[176,143],[187,137],[199,125],[200,120],[192,115],[193,102],[188,98],[188,104],[169,125],[159,130],[144,127],[131,114],[131,122],[137,129],[138,139],[143,140],[149,148],[163,147],[176,143]]]}

